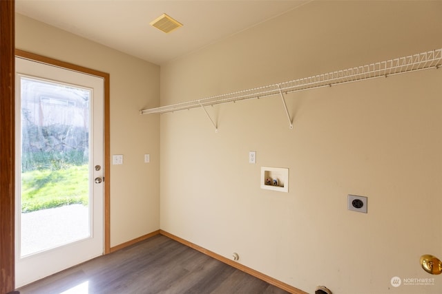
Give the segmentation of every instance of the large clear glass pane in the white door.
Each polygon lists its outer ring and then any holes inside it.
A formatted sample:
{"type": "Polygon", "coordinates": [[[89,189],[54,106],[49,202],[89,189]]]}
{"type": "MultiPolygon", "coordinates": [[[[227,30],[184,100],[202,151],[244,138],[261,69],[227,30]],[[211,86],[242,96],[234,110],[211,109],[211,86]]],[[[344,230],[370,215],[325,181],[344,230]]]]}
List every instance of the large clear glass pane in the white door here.
{"type": "Polygon", "coordinates": [[[90,236],[88,89],[21,76],[21,256],[90,236]]]}

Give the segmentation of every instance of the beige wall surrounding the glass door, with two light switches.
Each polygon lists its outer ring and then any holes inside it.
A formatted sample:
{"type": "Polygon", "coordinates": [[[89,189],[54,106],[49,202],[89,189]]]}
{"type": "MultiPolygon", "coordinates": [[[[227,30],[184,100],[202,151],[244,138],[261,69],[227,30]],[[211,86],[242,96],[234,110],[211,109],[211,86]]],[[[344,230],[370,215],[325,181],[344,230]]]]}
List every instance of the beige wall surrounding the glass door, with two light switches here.
{"type": "Polygon", "coordinates": [[[111,246],[160,229],[160,120],[138,113],[159,103],[160,67],[21,14],[16,47],[111,75],[111,154],[124,155],[111,165],[111,246]]]}

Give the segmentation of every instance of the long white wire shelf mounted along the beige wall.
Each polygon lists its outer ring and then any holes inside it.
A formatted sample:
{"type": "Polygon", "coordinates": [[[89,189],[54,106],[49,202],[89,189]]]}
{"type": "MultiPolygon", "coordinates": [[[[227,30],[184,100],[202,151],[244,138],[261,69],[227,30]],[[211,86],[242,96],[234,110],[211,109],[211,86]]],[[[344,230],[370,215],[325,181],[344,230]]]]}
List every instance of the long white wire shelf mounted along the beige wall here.
{"type": "Polygon", "coordinates": [[[252,98],[280,95],[281,92],[287,94],[290,92],[310,90],[318,87],[330,87],[332,85],[343,83],[364,81],[370,78],[386,77],[396,74],[404,74],[407,72],[415,72],[418,70],[438,68],[441,66],[441,63],[442,49],[432,50],[410,56],[390,59],[388,61],[352,67],[347,70],[338,70],[336,72],[327,72],[325,74],[318,74],[316,76],[309,76],[307,78],[298,78],[294,81],[256,87],[249,90],[242,90],[218,96],[210,96],[207,98],[186,101],[173,105],[142,109],[140,110],[140,114],[163,114],[166,112],[176,112],[195,107],[205,107],[252,98]]]}

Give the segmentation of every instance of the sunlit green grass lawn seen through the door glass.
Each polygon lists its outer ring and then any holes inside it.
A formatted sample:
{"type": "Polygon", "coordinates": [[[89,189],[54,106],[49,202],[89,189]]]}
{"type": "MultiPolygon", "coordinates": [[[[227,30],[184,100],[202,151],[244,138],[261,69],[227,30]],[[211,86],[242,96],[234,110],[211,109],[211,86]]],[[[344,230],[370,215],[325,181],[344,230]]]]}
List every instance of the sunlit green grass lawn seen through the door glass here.
{"type": "Polygon", "coordinates": [[[88,165],[21,174],[21,211],[37,211],[68,204],[87,205],[88,177],[88,165]]]}

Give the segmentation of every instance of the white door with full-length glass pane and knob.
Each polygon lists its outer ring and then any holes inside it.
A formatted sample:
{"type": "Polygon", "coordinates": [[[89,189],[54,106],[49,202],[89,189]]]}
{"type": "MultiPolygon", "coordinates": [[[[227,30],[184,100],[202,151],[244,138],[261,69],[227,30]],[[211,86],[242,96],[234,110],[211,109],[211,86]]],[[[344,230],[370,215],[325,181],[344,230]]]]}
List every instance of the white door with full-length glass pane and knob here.
{"type": "Polygon", "coordinates": [[[103,78],[16,58],[16,287],[103,254],[103,78]]]}

